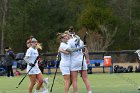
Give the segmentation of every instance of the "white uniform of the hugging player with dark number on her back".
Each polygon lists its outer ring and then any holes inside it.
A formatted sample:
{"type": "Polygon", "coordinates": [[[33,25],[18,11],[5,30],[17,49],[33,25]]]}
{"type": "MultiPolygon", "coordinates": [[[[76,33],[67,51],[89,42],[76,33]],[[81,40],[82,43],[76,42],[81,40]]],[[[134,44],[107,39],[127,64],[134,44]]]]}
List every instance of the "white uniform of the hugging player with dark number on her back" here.
{"type": "MultiPolygon", "coordinates": [[[[69,40],[69,45],[71,48],[80,48],[84,45],[83,41],[80,40],[79,42],[76,41],[76,38],[69,40]]],[[[83,61],[83,70],[87,69],[86,60],[84,57],[83,60],[83,52],[82,49],[77,51],[71,52],[71,71],[78,71],[82,68],[82,61],[83,61]]]]}

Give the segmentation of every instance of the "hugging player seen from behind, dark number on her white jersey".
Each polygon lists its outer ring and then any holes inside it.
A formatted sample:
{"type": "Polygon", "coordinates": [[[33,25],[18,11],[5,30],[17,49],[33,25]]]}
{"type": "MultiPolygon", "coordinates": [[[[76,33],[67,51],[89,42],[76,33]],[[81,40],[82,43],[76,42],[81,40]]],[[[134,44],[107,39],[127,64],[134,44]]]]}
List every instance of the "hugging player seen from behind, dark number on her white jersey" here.
{"type": "MultiPolygon", "coordinates": [[[[83,41],[76,40],[77,38],[73,37],[69,40],[69,45],[71,48],[79,48],[83,46],[83,41]]],[[[89,83],[88,77],[87,77],[87,63],[89,63],[89,56],[87,52],[87,48],[85,49],[85,55],[86,59],[83,60],[83,52],[82,49],[79,49],[77,51],[71,52],[71,80],[72,80],[72,86],[73,86],[73,93],[77,93],[77,76],[78,71],[82,74],[82,79],[85,83],[86,89],[88,93],[91,92],[91,85],[89,83]],[[83,60],[83,67],[82,67],[82,60],[83,60]],[[86,63],[87,61],[87,63],[86,63]]]]}

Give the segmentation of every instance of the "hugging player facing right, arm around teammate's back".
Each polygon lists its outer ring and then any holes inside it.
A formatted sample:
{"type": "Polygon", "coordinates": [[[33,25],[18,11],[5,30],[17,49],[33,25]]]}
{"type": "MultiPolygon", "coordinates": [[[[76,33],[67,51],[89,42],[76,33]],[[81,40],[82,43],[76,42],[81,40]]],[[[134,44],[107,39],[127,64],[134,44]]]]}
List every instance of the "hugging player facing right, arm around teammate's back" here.
{"type": "Polygon", "coordinates": [[[59,52],[61,53],[61,61],[60,61],[60,70],[62,72],[62,75],[64,77],[64,86],[65,86],[65,93],[68,93],[69,87],[71,85],[70,80],[70,52],[77,51],[83,47],[79,48],[70,48],[69,46],[69,39],[70,37],[67,34],[61,34],[59,36],[59,39],[61,41],[59,52]]]}

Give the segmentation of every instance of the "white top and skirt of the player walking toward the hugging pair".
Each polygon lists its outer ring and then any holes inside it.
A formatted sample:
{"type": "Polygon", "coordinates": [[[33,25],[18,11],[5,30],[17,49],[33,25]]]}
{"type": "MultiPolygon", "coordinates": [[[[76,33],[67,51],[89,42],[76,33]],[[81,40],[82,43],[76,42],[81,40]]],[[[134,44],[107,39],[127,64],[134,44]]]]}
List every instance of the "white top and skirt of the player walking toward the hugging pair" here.
{"type": "MultiPolygon", "coordinates": [[[[36,58],[38,57],[38,50],[34,49],[32,47],[27,49],[26,55],[28,57],[28,61],[29,63],[34,64],[36,58]]],[[[27,72],[30,70],[31,66],[29,65],[29,63],[27,64],[27,72]]],[[[38,61],[36,62],[35,66],[31,69],[31,71],[29,72],[29,74],[39,74],[41,73],[39,67],[38,67],[38,61]]]]}

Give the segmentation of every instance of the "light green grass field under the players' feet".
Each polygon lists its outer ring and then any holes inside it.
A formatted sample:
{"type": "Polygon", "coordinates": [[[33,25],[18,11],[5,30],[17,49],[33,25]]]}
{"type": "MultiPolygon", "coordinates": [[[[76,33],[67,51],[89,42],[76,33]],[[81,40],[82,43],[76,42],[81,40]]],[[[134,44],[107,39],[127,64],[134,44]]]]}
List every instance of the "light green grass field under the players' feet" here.
{"type": "MultiPolygon", "coordinates": [[[[44,77],[49,77],[49,88],[52,84],[53,76],[54,74],[44,75],[44,77]]],[[[140,91],[137,90],[137,87],[140,85],[140,73],[96,73],[88,76],[94,93],[140,93],[140,91]]],[[[28,77],[25,78],[18,89],[16,88],[22,77],[23,76],[15,76],[13,78],[7,78],[1,76],[0,93],[28,93],[28,77]]],[[[52,93],[64,93],[63,78],[60,74],[56,76],[52,93]]],[[[72,88],[70,89],[70,93],[72,93],[72,88]]],[[[84,83],[80,76],[78,77],[78,93],[86,93],[84,83]]]]}

